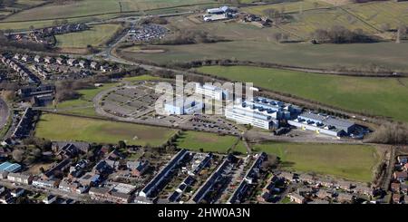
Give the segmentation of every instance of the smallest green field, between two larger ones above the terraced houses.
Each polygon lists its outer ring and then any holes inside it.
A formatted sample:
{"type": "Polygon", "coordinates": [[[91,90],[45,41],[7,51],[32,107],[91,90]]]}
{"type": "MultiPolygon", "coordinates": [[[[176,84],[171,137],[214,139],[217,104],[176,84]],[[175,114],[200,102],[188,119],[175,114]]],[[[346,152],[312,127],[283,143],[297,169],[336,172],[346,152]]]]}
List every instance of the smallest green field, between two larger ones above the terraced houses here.
{"type": "Polygon", "coordinates": [[[181,134],[177,146],[188,150],[200,150],[205,152],[227,153],[238,138],[233,136],[219,136],[215,133],[187,131],[181,134]]]}

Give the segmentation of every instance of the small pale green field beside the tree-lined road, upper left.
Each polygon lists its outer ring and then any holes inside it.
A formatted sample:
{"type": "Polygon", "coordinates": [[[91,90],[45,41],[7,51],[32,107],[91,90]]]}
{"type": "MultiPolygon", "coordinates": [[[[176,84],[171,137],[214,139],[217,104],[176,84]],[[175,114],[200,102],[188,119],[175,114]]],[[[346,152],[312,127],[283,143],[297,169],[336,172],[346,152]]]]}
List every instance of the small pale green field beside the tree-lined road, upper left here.
{"type": "Polygon", "coordinates": [[[101,47],[121,29],[121,24],[93,25],[90,30],[83,32],[56,35],[56,46],[60,48],[86,48],[88,45],[101,47]]]}

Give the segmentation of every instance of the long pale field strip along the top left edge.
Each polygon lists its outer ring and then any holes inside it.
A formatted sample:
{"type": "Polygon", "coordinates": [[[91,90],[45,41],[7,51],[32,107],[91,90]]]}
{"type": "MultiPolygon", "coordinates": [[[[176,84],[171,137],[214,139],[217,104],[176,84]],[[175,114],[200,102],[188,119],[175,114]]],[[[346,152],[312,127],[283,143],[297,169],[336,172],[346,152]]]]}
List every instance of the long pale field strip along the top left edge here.
{"type": "MultiPolygon", "coordinates": [[[[22,0],[34,4],[34,0],[22,0]]],[[[38,1],[40,2],[40,1],[38,1]]],[[[201,9],[216,4],[211,0],[82,0],[48,4],[23,10],[4,20],[0,29],[25,30],[52,26],[54,20],[69,23],[97,22],[120,15],[170,14],[201,9]],[[121,4],[120,4],[121,3],[121,4]],[[182,6],[186,5],[186,6],[182,6]]],[[[0,11],[1,13],[1,11],[0,11]]],[[[9,12],[4,12],[9,14],[9,12]]]]}

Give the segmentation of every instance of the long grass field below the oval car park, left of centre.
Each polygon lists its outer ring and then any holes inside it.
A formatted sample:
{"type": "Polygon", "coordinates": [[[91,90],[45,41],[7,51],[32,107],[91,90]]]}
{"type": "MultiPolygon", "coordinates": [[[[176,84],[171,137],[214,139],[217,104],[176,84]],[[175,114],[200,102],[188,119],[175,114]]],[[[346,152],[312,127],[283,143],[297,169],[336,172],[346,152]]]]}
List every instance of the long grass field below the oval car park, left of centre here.
{"type": "Polygon", "coordinates": [[[37,124],[35,136],[50,140],[83,140],[116,144],[125,140],[128,145],[160,146],[176,130],[126,122],[102,121],[43,114],[37,124]]]}

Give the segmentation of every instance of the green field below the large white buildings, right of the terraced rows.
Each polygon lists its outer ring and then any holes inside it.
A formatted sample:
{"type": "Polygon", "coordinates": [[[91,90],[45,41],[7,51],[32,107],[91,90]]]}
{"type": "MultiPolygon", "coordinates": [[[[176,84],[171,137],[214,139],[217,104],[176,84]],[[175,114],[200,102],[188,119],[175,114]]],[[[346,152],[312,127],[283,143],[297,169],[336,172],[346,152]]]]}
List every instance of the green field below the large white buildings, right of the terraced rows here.
{"type": "Polygon", "coordinates": [[[257,144],[254,150],[277,155],[286,169],[361,182],[372,181],[380,159],[376,149],[366,145],[271,142],[257,144]]]}

